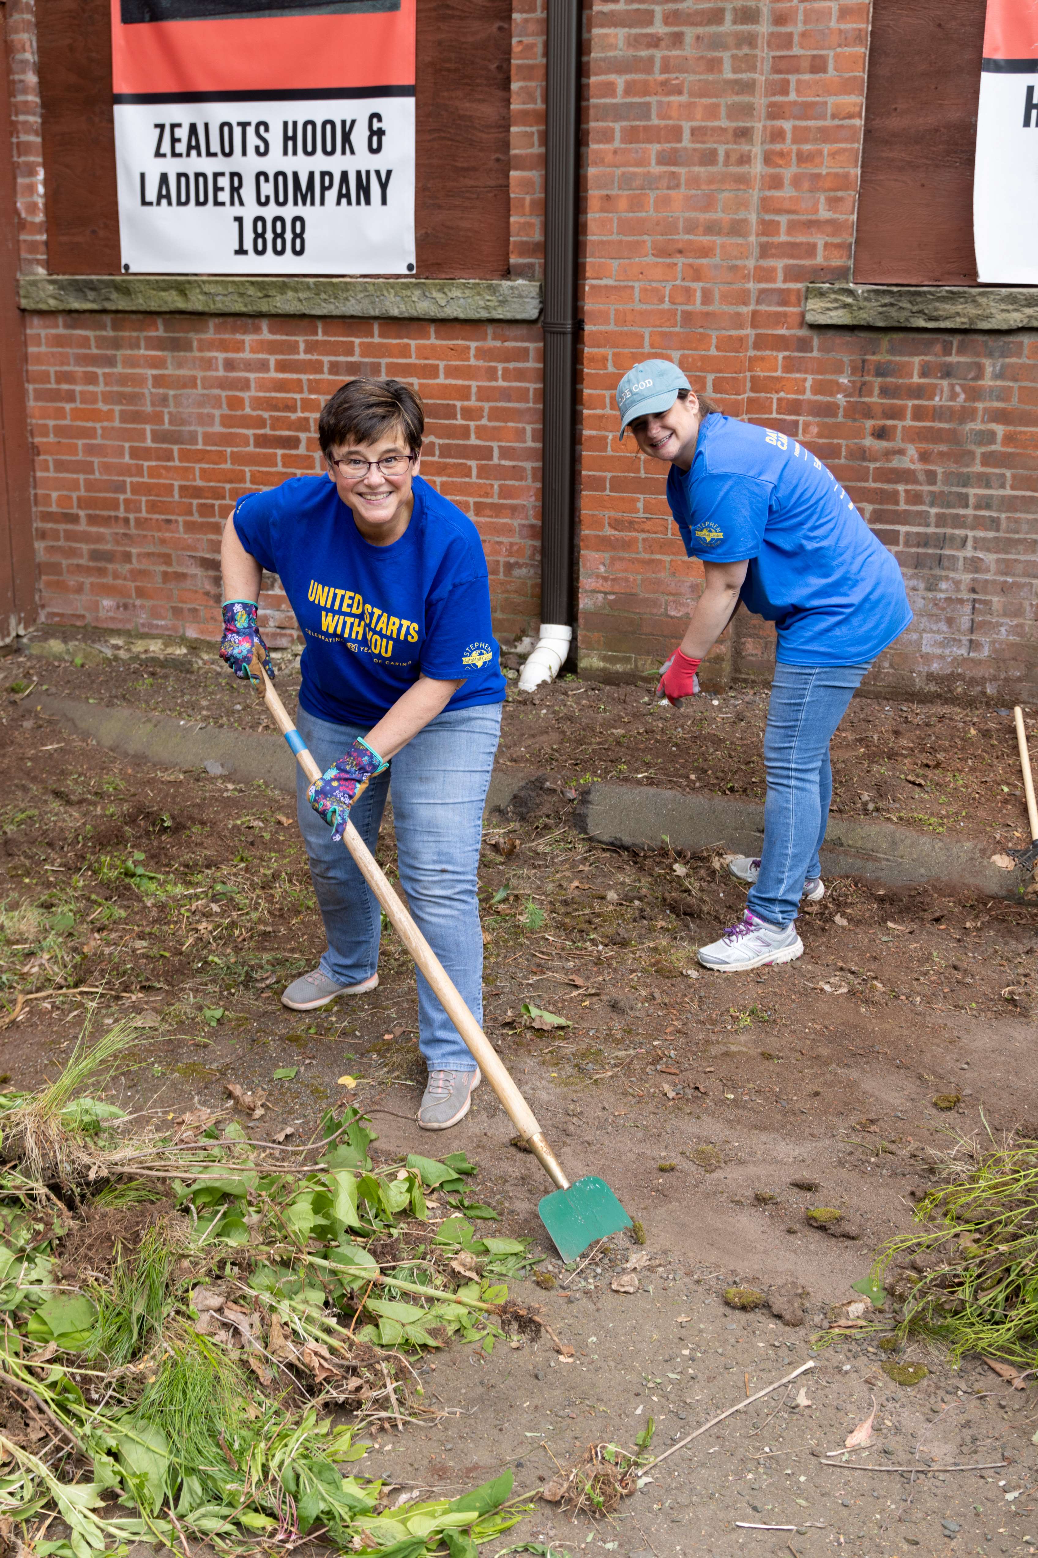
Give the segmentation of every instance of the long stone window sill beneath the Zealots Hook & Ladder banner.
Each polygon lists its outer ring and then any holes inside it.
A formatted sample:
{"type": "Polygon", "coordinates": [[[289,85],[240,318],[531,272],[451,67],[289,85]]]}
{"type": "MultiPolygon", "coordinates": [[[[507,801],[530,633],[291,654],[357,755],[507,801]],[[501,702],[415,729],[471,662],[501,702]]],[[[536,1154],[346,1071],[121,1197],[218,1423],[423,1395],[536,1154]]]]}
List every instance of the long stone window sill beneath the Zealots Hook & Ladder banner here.
{"type": "Polygon", "coordinates": [[[317,319],[498,319],[532,324],[529,280],[341,276],[22,276],[28,313],[296,315],[317,319]]]}

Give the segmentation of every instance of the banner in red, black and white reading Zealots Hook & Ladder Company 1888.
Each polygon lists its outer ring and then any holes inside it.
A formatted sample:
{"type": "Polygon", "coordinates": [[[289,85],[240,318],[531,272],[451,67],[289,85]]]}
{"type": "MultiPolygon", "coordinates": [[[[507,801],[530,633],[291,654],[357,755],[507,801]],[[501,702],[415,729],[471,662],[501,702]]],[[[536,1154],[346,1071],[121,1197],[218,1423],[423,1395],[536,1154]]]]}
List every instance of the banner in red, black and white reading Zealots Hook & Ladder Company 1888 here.
{"type": "Polygon", "coordinates": [[[124,271],[414,273],[416,0],[110,0],[124,271]]]}

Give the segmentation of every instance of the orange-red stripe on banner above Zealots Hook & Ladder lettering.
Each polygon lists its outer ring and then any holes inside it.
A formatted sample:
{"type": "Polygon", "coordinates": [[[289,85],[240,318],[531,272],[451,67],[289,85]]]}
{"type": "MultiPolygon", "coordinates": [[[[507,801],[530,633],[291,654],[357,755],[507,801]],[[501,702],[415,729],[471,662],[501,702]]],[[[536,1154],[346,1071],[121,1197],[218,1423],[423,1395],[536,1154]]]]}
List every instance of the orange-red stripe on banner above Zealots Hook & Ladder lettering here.
{"type": "Polygon", "coordinates": [[[112,90],[414,86],[414,8],[123,26],[112,0],[112,90]]]}

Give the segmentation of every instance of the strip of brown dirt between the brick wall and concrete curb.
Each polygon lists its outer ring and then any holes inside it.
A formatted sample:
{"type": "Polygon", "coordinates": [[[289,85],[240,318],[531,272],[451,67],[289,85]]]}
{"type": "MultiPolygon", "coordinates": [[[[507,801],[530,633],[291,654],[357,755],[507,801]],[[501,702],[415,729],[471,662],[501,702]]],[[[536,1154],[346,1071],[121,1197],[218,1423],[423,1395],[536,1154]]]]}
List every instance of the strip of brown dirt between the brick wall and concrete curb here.
{"type": "MultiPolygon", "coordinates": [[[[40,628],[39,650],[64,659],[20,657],[19,676],[72,696],[238,729],[269,731],[263,704],[226,671],[209,645],[120,639],[86,629],[40,628]],[[75,665],[67,656],[93,664],[75,665]],[[26,673],[31,670],[31,676],[26,673]]],[[[504,656],[509,665],[510,656],[504,656]]],[[[275,653],[279,689],[291,706],[299,657],[275,653]]],[[[518,662],[515,662],[518,664],[518,662]]],[[[515,671],[509,667],[509,675],[515,671]]],[[[517,693],[512,686],[498,763],[538,768],[563,785],[596,779],[661,785],[691,795],[764,798],[761,740],[767,690],[736,689],[680,709],[657,704],[643,686],[565,678],[517,693]]],[[[1027,715],[1030,732],[1038,717],[1027,715]]],[[[1027,843],[1027,812],[1012,709],[996,704],[914,703],[859,695],[833,742],[833,810],[875,816],[918,832],[948,834],[1001,849],[1027,843]]]]}

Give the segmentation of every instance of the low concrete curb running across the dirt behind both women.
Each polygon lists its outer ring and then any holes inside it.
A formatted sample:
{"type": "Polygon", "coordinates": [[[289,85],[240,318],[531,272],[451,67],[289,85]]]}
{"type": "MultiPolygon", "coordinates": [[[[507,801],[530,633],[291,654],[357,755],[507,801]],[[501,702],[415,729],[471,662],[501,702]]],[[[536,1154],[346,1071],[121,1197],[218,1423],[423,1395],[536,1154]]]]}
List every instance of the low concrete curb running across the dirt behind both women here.
{"type": "MultiPolygon", "coordinates": [[[[109,709],[48,693],[36,703],[65,728],[126,757],[143,757],[162,768],[219,763],[216,771],[233,779],[263,779],[275,790],[296,791],[296,760],[280,735],[198,726],[168,715],[109,709]]],[[[487,810],[507,805],[529,777],[529,770],[496,770],[490,779],[487,810]]],[[[574,821],[588,838],[626,849],[655,849],[668,838],[675,849],[707,849],[724,843],[728,849],[755,855],[764,834],[764,807],[651,785],[593,784],[580,796],[574,821]]],[[[893,823],[833,816],[825,838],[822,869],[831,877],[859,876],[893,885],[949,880],[988,897],[1007,899],[1018,899],[1026,887],[1019,871],[999,871],[976,844],[914,834],[893,823]]]]}

